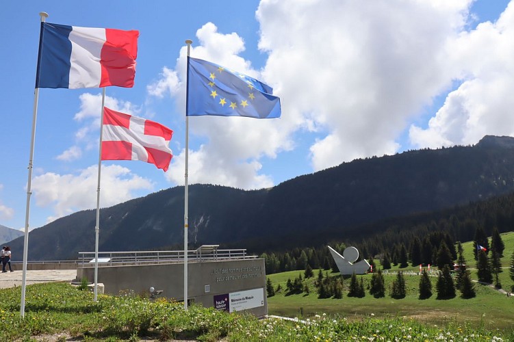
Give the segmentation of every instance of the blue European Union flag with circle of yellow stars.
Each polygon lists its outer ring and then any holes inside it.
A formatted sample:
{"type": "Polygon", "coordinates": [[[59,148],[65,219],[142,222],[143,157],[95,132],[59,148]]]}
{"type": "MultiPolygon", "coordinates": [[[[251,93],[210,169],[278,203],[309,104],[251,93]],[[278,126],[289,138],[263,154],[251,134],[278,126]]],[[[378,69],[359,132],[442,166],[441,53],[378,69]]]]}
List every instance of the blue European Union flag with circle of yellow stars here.
{"type": "Polygon", "coordinates": [[[272,92],[257,79],[188,57],[187,116],[279,118],[280,98],[272,92]]]}

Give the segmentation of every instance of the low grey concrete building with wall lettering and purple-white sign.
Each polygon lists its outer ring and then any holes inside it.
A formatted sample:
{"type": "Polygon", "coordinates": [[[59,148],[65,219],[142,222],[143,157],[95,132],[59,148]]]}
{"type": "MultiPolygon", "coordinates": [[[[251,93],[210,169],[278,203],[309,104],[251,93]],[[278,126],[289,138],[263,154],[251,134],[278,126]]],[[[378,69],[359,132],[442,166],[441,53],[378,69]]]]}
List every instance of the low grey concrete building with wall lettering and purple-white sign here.
{"type": "MultiPolygon", "coordinates": [[[[131,290],[183,300],[183,262],[143,265],[102,265],[98,282],[107,294],[131,290]]],[[[94,282],[94,267],[79,265],[77,280],[94,282]]],[[[268,314],[264,259],[197,259],[188,263],[188,299],[227,311],[246,310],[258,317],[268,314]],[[216,302],[215,302],[216,300],[216,302]],[[228,303],[228,304],[227,304],[228,303]],[[217,304],[217,305],[216,305],[217,304]]]]}

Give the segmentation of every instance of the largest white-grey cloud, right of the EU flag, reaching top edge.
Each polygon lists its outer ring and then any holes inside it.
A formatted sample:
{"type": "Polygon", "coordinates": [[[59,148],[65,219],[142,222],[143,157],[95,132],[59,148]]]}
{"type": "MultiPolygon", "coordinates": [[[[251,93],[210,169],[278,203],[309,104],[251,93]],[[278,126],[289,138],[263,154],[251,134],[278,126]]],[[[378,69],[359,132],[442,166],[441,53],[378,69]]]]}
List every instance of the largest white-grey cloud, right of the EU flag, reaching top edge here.
{"type": "Polygon", "coordinates": [[[405,124],[451,84],[446,42],[465,27],[470,3],[261,1],[263,75],[286,115],[320,131],[314,170],[400,148],[405,124]]]}

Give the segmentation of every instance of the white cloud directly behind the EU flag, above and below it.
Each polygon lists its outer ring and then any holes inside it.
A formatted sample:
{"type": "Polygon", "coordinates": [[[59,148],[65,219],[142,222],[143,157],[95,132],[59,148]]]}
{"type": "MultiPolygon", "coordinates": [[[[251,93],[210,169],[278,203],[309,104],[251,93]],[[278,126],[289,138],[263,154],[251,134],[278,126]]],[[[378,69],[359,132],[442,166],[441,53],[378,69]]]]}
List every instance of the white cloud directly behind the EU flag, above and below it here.
{"type": "MultiPolygon", "coordinates": [[[[244,51],[244,42],[237,34],[220,34],[212,23],[198,29],[196,36],[200,42],[192,47],[191,55],[223,66],[230,66],[246,75],[262,79],[237,53],[244,51]]],[[[160,79],[147,87],[149,95],[162,97],[169,94],[175,97],[177,108],[183,113],[185,107],[185,57],[186,49],[181,49],[175,70],[164,68],[160,79]]],[[[182,114],[183,115],[183,114],[182,114]]],[[[289,134],[296,123],[286,117],[272,120],[252,118],[220,118],[203,116],[190,118],[190,139],[207,137],[209,140],[198,150],[190,150],[189,183],[213,183],[244,189],[271,186],[272,179],[259,174],[263,156],[277,157],[280,150],[292,147],[289,134]]],[[[170,181],[183,184],[185,150],[173,157],[166,176],[170,181]]]]}

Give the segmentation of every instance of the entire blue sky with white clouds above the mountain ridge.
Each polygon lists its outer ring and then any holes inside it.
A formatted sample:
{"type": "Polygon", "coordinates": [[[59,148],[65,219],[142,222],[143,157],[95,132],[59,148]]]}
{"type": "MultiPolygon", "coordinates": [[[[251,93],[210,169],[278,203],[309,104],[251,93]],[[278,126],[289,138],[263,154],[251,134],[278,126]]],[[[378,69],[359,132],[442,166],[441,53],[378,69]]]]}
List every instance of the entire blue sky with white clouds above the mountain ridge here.
{"type": "MultiPolygon", "coordinates": [[[[101,206],[183,185],[185,43],[255,77],[282,118],[190,119],[190,183],[241,189],[373,155],[513,135],[514,3],[402,1],[8,1],[1,36],[0,224],[25,226],[39,40],[50,23],[138,29],[133,88],[112,109],[175,131],[170,169],[102,163],[101,206]]],[[[96,207],[100,89],[39,93],[30,228],[96,207]]],[[[190,205],[194,205],[191,203],[190,205]]]]}

